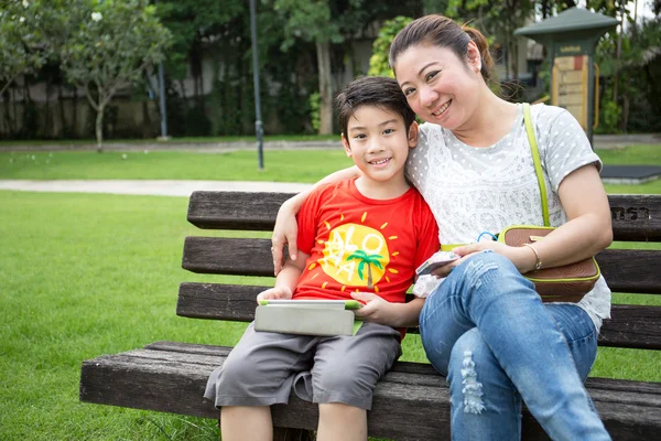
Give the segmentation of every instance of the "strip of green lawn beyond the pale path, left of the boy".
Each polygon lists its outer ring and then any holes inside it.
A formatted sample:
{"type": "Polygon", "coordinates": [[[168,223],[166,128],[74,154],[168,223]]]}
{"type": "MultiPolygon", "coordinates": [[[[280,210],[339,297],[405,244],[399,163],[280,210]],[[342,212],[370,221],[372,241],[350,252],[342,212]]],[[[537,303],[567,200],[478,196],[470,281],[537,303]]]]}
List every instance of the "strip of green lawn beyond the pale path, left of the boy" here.
{"type": "Polygon", "coordinates": [[[18,180],[216,180],[315,182],[353,162],[344,150],[277,150],[258,170],[254,151],[193,153],[63,151],[0,153],[0,179],[18,180]],[[123,157],[126,155],[126,159],[123,157]]]}

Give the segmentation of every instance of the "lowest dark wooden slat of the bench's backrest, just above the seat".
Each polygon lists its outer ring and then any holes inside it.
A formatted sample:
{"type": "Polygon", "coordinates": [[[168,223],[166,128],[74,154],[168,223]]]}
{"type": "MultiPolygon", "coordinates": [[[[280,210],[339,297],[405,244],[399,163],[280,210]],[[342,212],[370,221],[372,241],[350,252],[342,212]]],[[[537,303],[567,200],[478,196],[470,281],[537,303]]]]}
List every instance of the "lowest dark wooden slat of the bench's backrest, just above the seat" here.
{"type": "MultiPolygon", "coordinates": [[[[268,287],[245,284],[182,283],[176,314],[195,319],[250,322],[258,293],[268,287]]],[[[599,345],[661,349],[661,306],[613,305],[604,322],[599,345]]],[[[418,332],[410,329],[410,332],[418,332]]]]}

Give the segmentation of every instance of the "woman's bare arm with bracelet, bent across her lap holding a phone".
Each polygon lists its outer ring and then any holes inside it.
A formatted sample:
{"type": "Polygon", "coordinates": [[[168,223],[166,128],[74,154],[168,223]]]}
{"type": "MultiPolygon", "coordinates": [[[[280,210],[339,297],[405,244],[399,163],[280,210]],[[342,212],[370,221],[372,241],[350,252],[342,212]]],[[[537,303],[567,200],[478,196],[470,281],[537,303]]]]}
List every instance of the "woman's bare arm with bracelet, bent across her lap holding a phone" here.
{"type": "MultiPolygon", "coordinates": [[[[561,267],[596,255],[613,241],[610,207],[594,164],[584,165],[570,173],[557,190],[568,220],[553,233],[534,244],[543,268],[561,267]]],[[[510,247],[496,241],[486,241],[459,247],[459,256],[484,249],[494,249],[509,258],[525,273],[534,269],[537,256],[529,247],[510,247]]],[[[447,276],[462,260],[448,263],[434,271],[435,276],[447,276]]]]}

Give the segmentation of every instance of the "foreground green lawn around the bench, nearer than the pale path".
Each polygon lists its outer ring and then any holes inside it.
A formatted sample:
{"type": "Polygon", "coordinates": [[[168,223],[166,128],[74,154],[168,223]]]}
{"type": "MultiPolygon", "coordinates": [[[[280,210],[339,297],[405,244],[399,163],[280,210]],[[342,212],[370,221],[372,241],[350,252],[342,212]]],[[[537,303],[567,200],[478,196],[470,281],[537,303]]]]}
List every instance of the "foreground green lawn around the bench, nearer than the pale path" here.
{"type": "MultiPolygon", "coordinates": [[[[175,315],[178,283],[263,280],[181,269],[199,234],[185,197],[0,192],[0,439],[217,440],[214,420],[79,402],[80,363],[158,340],[234,345],[245,325],[175,315]]],[[[425,359],[419,335],[403,359],[425,359]]],[[[593,375],[661,381],[661,352],[600,348],[593,375]]]]}

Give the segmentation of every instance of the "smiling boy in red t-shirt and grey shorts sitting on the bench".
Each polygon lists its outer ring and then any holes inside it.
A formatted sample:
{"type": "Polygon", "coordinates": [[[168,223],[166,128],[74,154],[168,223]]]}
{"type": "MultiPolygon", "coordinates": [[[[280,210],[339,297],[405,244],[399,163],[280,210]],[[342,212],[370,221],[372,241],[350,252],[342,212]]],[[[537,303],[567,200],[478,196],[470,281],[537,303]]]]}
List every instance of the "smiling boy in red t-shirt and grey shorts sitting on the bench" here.
{"type": "Polygon", "coordinates": [[[205,397],[221,407],[224,441],[270,440],[270,406],[291,389],[319,406],[317,440],[366,440],[377,381],[401,354],[395,327],[418,324],[424,299],[405,303],[415,268],[438,249],[436,222],[404,180],[418,125],[394,79],[365,77],[336,98],[342,143],[362,172],[319,185],[299,215],[300,257],[261,299],[357,299],[353,336],[256,332],[250,324],[205,397]]]}

